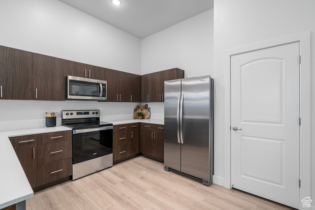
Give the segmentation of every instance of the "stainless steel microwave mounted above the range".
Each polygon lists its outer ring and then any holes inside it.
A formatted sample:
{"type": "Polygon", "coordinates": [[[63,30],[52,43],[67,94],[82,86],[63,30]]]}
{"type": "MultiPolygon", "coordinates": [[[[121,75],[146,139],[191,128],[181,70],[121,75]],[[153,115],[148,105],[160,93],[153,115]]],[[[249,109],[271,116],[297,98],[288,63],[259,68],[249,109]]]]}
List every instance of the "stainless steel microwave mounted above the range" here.
{"type": "Polygon", "coordinates": [[[67,76],[67,100],[95,100],[107,99],[107,82],[97,79],[67,76]]]}

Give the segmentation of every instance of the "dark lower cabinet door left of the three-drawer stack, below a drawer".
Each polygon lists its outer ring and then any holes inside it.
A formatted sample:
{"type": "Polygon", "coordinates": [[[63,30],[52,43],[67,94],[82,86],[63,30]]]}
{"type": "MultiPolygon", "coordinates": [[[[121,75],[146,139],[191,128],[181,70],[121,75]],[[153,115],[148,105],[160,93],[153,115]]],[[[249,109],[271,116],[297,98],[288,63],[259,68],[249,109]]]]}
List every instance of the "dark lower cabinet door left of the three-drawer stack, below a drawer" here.
{"type": "Polygon", "coordinates": [[[31,185],[37,186],[37,146],[29,146],[15,149],[24,173],[31,185]]]}

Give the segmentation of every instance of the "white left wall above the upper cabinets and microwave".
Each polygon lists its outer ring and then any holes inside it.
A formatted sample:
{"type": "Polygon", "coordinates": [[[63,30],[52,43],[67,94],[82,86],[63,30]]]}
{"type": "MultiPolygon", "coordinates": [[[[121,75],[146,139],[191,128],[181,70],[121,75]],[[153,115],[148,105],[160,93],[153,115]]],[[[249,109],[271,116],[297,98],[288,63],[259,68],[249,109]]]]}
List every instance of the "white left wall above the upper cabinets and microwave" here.
{"type": "Polygon", "coordinates": [[[1,0],[0,45],[141,74],[141,40],[58,0],[1,0]]]}

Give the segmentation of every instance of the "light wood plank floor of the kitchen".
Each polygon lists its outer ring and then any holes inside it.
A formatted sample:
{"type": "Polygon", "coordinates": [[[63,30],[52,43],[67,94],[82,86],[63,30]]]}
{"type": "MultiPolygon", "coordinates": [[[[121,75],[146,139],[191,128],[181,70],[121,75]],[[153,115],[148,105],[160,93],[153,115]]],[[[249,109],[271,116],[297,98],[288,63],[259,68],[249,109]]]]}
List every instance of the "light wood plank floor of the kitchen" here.
{"type": "Polygon", "coordinates": [[[34,193],[26,209],[292,209],[240,190],[209,187],[139,156],[34,193]]]}

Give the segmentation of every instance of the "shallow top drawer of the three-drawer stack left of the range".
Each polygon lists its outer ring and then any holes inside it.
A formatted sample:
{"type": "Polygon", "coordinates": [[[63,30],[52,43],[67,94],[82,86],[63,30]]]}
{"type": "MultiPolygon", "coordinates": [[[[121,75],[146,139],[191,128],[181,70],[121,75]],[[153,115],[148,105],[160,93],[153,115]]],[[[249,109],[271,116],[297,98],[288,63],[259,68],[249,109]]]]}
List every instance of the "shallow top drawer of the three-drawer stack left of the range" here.
{"type": "Polygon", "coordinates": [[[72,139],[72,131],[60,131],[52,133],[41,133],[37,134],[37,144],[47,144],[57,141],[64,141],[72,139]]]}

